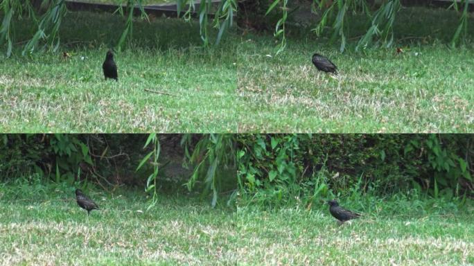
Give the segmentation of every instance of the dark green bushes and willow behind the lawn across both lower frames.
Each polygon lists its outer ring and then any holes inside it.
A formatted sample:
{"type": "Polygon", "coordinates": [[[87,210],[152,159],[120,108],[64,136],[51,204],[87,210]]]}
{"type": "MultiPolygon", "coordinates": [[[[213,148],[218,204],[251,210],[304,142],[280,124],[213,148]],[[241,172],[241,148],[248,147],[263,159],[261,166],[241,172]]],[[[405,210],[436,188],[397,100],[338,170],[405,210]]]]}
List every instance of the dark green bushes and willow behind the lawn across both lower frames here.
{"type": "Polygon", "coordinates": [[[473,197],[470,134],[5,134],[0,139],[4,181],[30,176],[57,184],[93,182],[104,189],[146,181],[147,191],[185,183],[202,197],[212,195],[213,205],[231,193],[229,203],[270,207],[310,207],[335,197],[358,202],[359,195],[389,197],[410,190],[435,198],[473,197]],[[153,148],[143,150],[145,142],[153,148]]]}

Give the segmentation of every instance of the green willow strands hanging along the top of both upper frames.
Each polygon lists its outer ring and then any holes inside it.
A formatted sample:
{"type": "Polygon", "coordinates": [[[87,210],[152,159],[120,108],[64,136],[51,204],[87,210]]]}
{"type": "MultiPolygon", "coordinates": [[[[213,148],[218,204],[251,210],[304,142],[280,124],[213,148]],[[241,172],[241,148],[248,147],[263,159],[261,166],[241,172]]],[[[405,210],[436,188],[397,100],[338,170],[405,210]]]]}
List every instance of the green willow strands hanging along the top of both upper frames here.
{"type": "MultiPolygon", "coordinates": [[[[121,46],[123,46],[127,39],[132,39],[133,37],[132,25],[134,8],[140,10],[142,19],[149,21],[145,7],[143,6],[143,0],[122,0],[120,2],[125,3],[125,1],[127,1],[126,10],[128,11],[128,17],[125,21],[125,28],[115,45],[118,51],[121,50],[121,46]]],[[[212,21],[209,21],[209,13],[212,10],[211,6],[213,4],[212,1],[201,1],[197,13],[200,25],[200,37],[204,46],[209,46],[210,43],[208,31],[209,26],[211,26],[210,24],[218,28],[215,44],[221,42],[222,37],[233,25],[233,17],[235,12],[238,11],[238,1],[239,0],[220,0],[219,7],[212,21]]],[[[9,57],[12,54],[13,44],[15,43],[15,40],[12,39],[12,32],[15,30],[15,25],[12,21],[21,18],[24,13],[28,13],[28,16],[33,19],[35,30],[32,31],[33,36],[26,42],[21,54],[26,55],[26,53],[42,50],[40,48],[51,48],[53,51],[57,51],[60,47],[60,24],[67,12],[65,2],[65,0],[41,1],[41,9],[45,10],[45,12],[37,17],[30,0],[0,1],[0,8],[4,14],[0,26],[0,44],[6,44],[7,56],[9,57]]],[[[270,0],[268,2],[270,6],[265,13],[265,15],[270,14],[272,10],[275,10],[277,6],[280,5],[283,10],[281,18],[277,21],[277,24],[274,25],[274,36],[280,40],[277,53],[280,53],[286,48],[285,26],[289,15],[288,2],[288,0],[270,0]]],[[[459,39],[467,36],[469,2],[470,1],[462,0],[457,3],[456,0],[453,0],[453,4],[450,6],[450,8],[454,8],[455,10],[459,10],[459,8],[464,6],[459,24],[450,42],[451,46],[455,46],[459,42],[459,39]]],[[[177,0],[176,3],[178,17],[182,17],[185,21],[190,21],[193,12],[195,12],[195,0],[177,0]],[[183,11],[184,15],[182,16],[183,11]]],[[[384,0],[381,1],[378,10],[372,14],[369,10],[367,0],[313,0],[312,10],[314,12],[324,10],[319,23],[313,28],[313,31],[319,36],[324,33],[325,28],[330,28],[332,35],[331,42],[338,40],[340,42],[340,51],[344,51],[346,48],[347,35],[351,26],[346,23],[347,12],[362,12],[362,14],[365,14],[371,19],[371,24],[367,27],[365,35],[358,40],[356,50],[361,47],[368,47],[375,42],[382,42],[385,46],[391,46],[394,42],[394,21],[396,19],[396,13],[400,8],[400,0],[384,0]],[[331,27],[327,27],[328,25],[331,25],[331,27]]],[[[114,13],[125,16],[123,5],[120,4],[114,13]]]]}

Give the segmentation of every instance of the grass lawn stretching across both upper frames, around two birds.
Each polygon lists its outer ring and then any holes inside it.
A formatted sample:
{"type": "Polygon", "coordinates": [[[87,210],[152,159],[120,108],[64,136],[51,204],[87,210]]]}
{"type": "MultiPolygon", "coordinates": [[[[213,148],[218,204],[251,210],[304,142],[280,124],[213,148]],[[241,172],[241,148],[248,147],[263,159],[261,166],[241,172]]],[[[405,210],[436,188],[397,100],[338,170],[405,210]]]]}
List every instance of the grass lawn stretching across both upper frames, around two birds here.
{"type": "MultiPolygon", "coordinates": [[[[309,29],[288,26],[288,47],[277,56],[270,33],[234,30],[203,50],[197,24],[152,18],[134,24],[132,43],[116,55],[116,83],[103,80],[101,64],[124,19],[72,12],[58,53],[1,58],[0,131],[474,132],[474,44],[446,45],[457,18],[403,9],[401,55],[339,53],[309,29]],[[72,57],[63,60],[62,51],[72,57]],[[315,51],[337,64],[339,77],[315,69],[315,51]]],[[[351,24],[352,35],[363,33],[364,21],[351,24]]],[[[27,33],[17,28],[17,36],[27,33]]]]}

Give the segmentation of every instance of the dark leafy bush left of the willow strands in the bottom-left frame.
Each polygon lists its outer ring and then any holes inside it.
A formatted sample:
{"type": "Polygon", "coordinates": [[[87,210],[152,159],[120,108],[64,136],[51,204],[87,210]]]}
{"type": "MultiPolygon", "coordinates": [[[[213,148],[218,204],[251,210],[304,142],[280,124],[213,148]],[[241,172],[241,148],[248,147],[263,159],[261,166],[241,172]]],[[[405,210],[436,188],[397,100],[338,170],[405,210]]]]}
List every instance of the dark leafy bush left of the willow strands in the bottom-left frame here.
{"type": "Polygon", "coordinates": [[[141,157],[137,147],[145,139],[138,134],[3,134],[0,179],[36,175],[57,183],[134,184],[127,171],[141,157]]]}

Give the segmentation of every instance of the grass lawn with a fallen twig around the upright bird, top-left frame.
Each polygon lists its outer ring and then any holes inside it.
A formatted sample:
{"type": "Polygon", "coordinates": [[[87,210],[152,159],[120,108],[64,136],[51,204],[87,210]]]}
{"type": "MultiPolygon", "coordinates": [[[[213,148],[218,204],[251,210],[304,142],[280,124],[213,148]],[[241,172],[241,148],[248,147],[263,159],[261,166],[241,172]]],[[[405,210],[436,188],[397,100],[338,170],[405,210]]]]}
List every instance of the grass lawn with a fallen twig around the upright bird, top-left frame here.
{"type": "Polygon", "coordinates": [[[198,48],[194,24],[137,23],[134,43],[116,55],[119,82],[104,80],[105,53],[123,25],[118,16],[71,13],[58,53],[2,58],[0,131],[236,132],[232,54],[198,48]]]}

